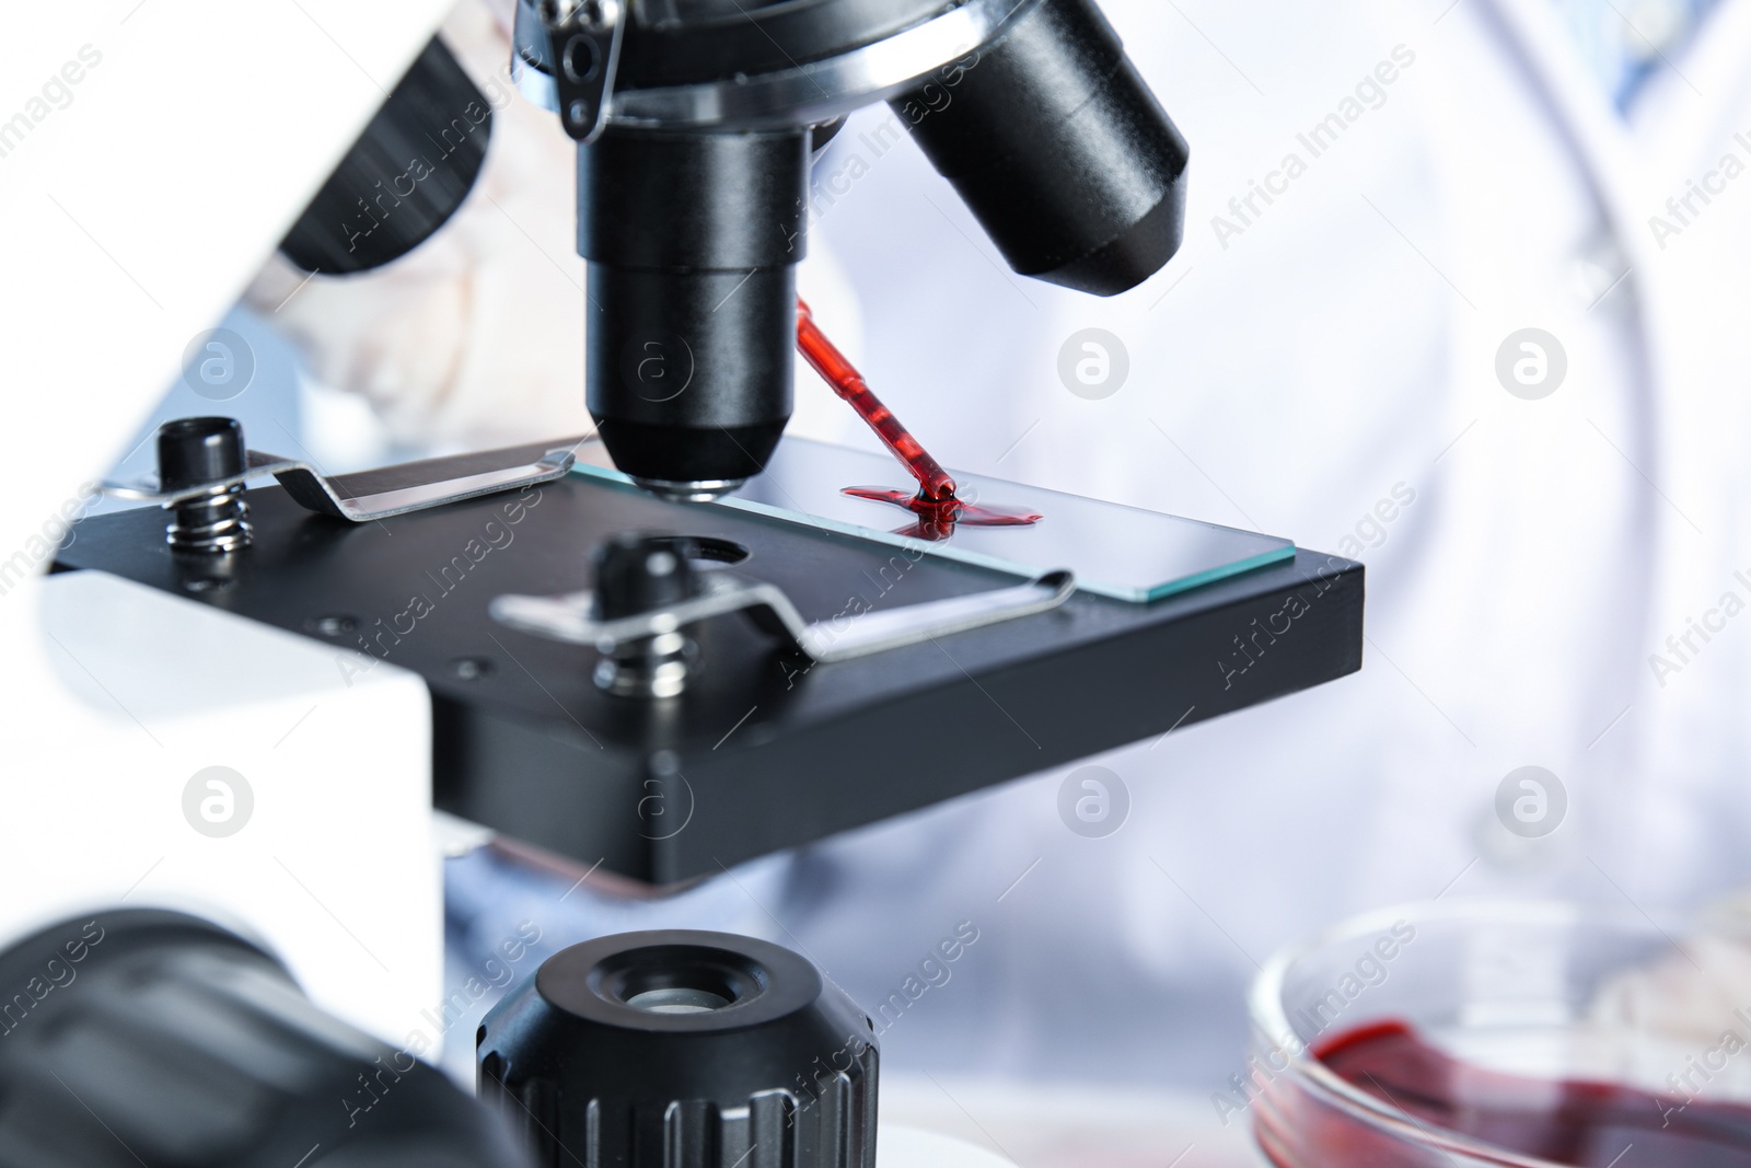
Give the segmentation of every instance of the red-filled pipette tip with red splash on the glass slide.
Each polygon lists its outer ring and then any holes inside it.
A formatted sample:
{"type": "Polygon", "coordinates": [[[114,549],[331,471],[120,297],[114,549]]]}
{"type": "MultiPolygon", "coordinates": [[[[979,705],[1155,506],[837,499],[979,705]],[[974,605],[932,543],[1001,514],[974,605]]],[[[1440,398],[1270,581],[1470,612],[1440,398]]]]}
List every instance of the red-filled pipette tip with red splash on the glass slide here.
{"type": "Polygon", "coordinates": [[[876,436],[883,440],[905,469],[918,480],[918,494],[891,490],[886,487],[846,487],[844,494],[876,503],[893,503],[918,517],[918,524],[897,534],[916,536],[919,539],[940,541],[954,534],[958,524],[970,527],[1028,527],[1044,517],[1035,511],[1016,508],[982,506],[963,503],[956,497],[954,480],[942,464],[930,457],[930,452],[912,438],[911,431],[900,424],[893,410],[884,406],[870,391],[863,375],[846,359],[833,341],[814,322],[809,305],[797,301],[797,348],[807,357],[814,371],[819,373],[833,392],[868,422],[876,436]]]}

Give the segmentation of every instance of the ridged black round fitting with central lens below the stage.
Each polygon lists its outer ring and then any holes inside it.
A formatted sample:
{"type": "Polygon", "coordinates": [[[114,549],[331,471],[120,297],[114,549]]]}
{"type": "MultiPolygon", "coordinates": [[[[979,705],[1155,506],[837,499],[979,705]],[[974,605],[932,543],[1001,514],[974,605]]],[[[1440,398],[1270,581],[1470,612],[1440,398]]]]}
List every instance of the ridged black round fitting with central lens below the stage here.
{"type": "Polygon", "coordinates": [[[487,1014],[480,1096],[539,1164],[874,1168],[876,1031],[790,949],[650,932],[564,949],[487,1014]]]}

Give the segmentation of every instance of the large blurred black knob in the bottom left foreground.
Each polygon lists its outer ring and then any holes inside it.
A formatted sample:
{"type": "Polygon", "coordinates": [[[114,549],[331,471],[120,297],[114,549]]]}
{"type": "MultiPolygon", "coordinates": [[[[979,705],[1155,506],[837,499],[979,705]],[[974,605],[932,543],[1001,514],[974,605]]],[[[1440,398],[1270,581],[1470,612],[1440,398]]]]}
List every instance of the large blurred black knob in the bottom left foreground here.
{"type": "Polygon", "coordinates": [[[525,1168],[431,1066],[191,916],[107,911],[0,953],[0,1164],[525,1168]]]}

